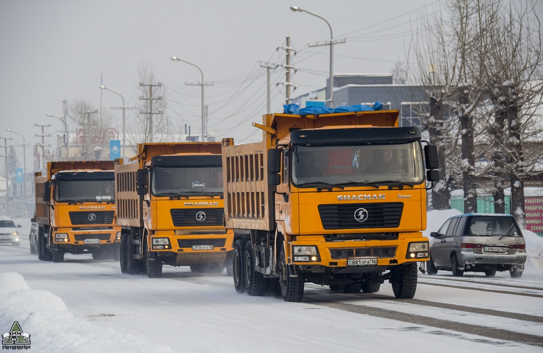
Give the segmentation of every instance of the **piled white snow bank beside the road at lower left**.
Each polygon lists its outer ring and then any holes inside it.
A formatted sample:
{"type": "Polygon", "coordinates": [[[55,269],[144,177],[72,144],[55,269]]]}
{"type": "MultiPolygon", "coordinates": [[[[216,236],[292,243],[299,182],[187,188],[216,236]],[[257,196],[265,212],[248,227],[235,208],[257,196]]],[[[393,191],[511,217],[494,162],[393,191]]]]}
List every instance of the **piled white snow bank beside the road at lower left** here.
{"type": "Polygon", "coordinates": [[[172,352],[167,346],[153,343],[160,340],[156,332],[149,332],[144,342],[116,329],[74,318],[59,297],[30,289],[18,273],[0,273],[0,288],[2,332],[17,321],[24,332],[30,333],[33,351],[95,353],[107,347],[110,352],[172,352]]]}

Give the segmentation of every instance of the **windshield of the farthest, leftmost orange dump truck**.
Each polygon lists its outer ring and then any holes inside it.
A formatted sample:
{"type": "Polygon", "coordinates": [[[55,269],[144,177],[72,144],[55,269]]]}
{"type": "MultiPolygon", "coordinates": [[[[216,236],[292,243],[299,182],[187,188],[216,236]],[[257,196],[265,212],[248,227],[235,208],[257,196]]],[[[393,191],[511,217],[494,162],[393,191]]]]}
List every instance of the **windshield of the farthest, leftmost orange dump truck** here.
{"type": "Polygon", "coordinates": [[[115,201],[115,181],[56,180],[55,200],[59,202],[115,201]]]}

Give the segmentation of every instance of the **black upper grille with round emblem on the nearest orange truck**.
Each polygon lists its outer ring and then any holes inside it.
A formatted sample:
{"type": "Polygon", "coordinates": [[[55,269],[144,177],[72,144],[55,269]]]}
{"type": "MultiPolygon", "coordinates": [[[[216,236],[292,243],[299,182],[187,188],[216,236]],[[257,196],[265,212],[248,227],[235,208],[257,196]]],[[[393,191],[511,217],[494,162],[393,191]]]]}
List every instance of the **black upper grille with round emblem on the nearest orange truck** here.
{"type": "Polygon", "coordinates": [[[401,202],[319,205],[324,229],[397,228],[402,211],[401,202]],[[367,211],[365,219],[361,209],[367,211]]]}

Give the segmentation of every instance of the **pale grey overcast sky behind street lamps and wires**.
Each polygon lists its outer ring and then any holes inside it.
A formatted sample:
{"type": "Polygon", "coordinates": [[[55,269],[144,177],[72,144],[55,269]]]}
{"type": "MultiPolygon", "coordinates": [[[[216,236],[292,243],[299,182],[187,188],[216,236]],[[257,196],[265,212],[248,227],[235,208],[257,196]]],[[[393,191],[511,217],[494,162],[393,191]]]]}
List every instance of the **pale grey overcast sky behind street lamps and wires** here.
{"type": "MultiPolygon", "coordinates": [[[[285,51],[276,51],[291,37],[299,52],[292,65],[298,85],[291,96],[326,84],[329,47],[308,48],[308,43],[330,37],[320,18],[293,12],[298,5],[325,17],[336,39],[334,73],[387,73],[405,51],[426,5],[431,13],[439,1],[431,0],[0,0],[0,136],[8,144],[33,146],[41,130],[35,123],[52,125],[53,136],[61,122],[62,100],[85,99],[97,107],[121,106],[117,94],[99,89],[102,83],[121,93],[127,106],[140,97],[137,67],[147,61],[165,86],[168,113],[176,127],[192,126],[199,135],[201,80],[197,68],[174,62],[171,56],[191,61],[204,73],[205,103],[209,106],[210,133],[233,137],[236,143],[256,141],[251,127],[266,112],[266,69],[258,61],[284,63],[285,51]]],[[[539,2],[541,14],[543,2],[539,2]]],[[[540,16],[541,18],[541,16],[540,16]]],[[[273,80],[271,110],[280,111],[285,99],[285,71],[273,80]]],[[[135,114],[135,110],[130,114],[135,114]]],[[[112,110],[113,127],[122,129],[122,111],[112,110]]],[[[131,117],[127,112],[127,124],[131,117]]],[[[71,130],[75,123],[68,119],[71,130]]],[[[56,147],[56,140],[48,143],[56,147]]],[[[3,145],[3,140],[0,140],[3,145]]],[[[31,161],[31,148],[27,159],[31,161]]],[[[21,151],[22,152],[22,151],[21,151]]],[[[3,153],[3,150],[2,150],[3,153]]],[[[22,157],[19,158],[22,163],[22,157]]],[[[30,168],[31,162],[27,161],[30,168]]]]}

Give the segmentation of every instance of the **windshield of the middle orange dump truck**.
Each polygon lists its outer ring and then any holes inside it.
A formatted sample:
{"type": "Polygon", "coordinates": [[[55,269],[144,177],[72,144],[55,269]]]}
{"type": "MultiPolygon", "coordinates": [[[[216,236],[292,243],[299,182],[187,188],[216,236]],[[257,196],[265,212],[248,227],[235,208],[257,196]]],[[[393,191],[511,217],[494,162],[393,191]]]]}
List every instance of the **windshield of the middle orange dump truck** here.
{"type": "Polygon", "coordinates": [[[223,167],[153,167],[154,196],[223,194],[223,167]]]}

